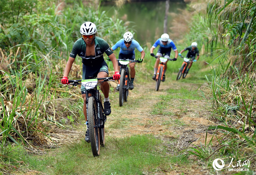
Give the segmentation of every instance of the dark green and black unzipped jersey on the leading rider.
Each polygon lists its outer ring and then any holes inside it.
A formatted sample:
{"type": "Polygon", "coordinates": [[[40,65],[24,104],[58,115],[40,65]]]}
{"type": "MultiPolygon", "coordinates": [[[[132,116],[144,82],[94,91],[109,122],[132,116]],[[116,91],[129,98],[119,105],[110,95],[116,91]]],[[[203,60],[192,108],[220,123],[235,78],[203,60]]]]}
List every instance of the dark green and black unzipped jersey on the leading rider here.
{"type": "Polygon", "coordinates": [[[86,44],[85,41],[79,38],[73,45],[72,51],[70,53],[70,57],[76,58],[76,56],[80,56],[82,58],[82,63],[87,66],[93,66],[95,64],[100,64],[104,61],[103,53],[105,52],[107,56],[110,56],[113,51],[110,49],[109,45],[105,40],[100,37],[95,37],[95,56],[87,56],[85,57],[86,52],[86,44]]]}

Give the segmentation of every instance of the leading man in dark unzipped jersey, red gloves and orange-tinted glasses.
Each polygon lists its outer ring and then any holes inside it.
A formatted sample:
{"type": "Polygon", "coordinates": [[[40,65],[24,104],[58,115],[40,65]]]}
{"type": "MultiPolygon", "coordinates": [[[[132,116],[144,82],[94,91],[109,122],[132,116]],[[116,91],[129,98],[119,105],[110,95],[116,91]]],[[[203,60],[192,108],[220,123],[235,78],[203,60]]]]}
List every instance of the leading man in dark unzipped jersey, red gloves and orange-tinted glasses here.
{"type": "MultiPolygon", "coordinates": [[[[73,45],[72,51],[69,55],[68,62],[65,67],[64,75],[61,80],[63,84],[68,83],[68,74],[71,70],[72,64],[75,61],[76,56],[80,56],[82,58],[82,69],[83,75],[82,79],[90,79],[93,77],[104,78],[108,76],[108,66],[104,61],[103,53],[105,52],[107,56],[113,63],[113,67],[115,70],[115,74],[113,78],[115,80],[119,80],[119,67],[118,62],[115,58],[113,51],[110,49],[109,45],[105,40],[100,37],[95,37],[97,32],[97,28],[94,23],[85,22],[80,27],[80,33],[82,35],[73,45]]],[[[100,80],[103,81],[103,80],[100,80]]],[[[100,89],[104,94],[104,113],[106,115],[110,115],[110,103],[109,103],[109,84],[108,82],[101,83],[100,89]]],[[[86,137],[85,141],[90,142],[90,134],[88,130],[88,121],[86,114],[86,95],[85,95],[85,87],[81,86],[82,97],[84,98],[84,106],[83,111],[86,120],[86,137]]],[[[89,94],[90,96],[90,94],[89,94]]]]}

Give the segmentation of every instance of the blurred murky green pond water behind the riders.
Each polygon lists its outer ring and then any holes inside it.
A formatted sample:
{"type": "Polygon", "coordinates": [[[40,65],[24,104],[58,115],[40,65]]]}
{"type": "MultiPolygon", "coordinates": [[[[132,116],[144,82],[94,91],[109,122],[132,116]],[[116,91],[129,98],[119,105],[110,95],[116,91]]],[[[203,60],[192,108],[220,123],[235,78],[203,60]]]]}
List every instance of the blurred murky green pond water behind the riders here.
{"type": "MultiPolygon", "coordinates": [[[[186,8],[184,1],[169,1],[168,33],[173,17],[171,13],[180,13],[186,8]]],[[[153,44],[163,34],[163,21],[166,1],[130,1],[118,8],[114,2],[101,4],[101,11],[107,16],[117,18],[128,23],[129,31],[135,32],[134,39],[141,45],[150,42],[153,44]]],[[[120,36],[120,39],[122,36],[120,36]]]]}

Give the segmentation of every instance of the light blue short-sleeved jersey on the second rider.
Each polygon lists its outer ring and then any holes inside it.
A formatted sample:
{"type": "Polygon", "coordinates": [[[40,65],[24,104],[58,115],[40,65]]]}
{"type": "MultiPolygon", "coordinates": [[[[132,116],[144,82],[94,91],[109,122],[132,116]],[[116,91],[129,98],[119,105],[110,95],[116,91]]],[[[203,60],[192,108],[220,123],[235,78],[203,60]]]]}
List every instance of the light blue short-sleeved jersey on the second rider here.
{"type": "Polygon", "coordinates": [[[113,45],[111,48],[114,51],[118,47],[121,48],[119,53],[123,53],[126,55],[130,53],[135,53],[134,52],[135,48],[137,48],[139,52],[143,51],[143,48],[140,46],[140,44],[136,40],[132,40],[132,44],[129,46],[129,48],[127,48],[124,44],[124,39],[121,39],[117,43],[115,43],[115,45],[113,45]]]}

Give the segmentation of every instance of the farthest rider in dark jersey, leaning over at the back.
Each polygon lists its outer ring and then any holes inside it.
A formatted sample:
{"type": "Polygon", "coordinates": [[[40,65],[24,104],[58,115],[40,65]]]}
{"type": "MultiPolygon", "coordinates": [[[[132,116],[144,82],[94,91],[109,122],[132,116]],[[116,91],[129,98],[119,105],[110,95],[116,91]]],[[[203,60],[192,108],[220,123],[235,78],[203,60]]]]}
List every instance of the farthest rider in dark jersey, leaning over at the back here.
{"type": "MultiPolygon", "coordinates": [[[[191,58],[191,59],[193,59],[193,62],[196,62],[199,59],[199,49],[197,48],[197,43],[192,42],[191,46],[188,46],[187,48],[180,51],[179,56],[181,56],[182,52],[187,51],[187,50],[188,50],[188,53],[186,55],[186,58],[191,58]],[[196,55],[197,55],[197,58],[196,58],[196,55]]],[[[193,62],[190,62],[190,64],[188,65],[188,69],[186,70],[185,73],[188,73],[188,70],[192,66],[193,62]]]]}

